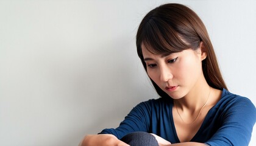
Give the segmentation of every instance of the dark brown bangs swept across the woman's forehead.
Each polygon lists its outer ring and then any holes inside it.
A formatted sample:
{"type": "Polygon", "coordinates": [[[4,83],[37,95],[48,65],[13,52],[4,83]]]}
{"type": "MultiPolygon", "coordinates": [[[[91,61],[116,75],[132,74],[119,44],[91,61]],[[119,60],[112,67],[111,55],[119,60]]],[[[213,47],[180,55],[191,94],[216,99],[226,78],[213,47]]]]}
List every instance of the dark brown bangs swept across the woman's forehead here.
{"type": "Polygon", "coordinates": [[[172,54],[190,48],[182,37],[165,21],[151,18],[141,31],[140,42],[152,54],[172,54]]]}

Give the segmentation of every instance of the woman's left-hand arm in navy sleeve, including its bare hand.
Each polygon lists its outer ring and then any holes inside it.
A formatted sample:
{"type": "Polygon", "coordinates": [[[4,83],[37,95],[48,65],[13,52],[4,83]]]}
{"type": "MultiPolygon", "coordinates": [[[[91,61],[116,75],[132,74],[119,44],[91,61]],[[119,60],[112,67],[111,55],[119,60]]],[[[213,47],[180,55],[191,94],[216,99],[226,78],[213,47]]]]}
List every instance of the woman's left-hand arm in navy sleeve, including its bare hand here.
{"type": "Polygon", "coordinates": [[[121,137],[133,131],[146,131],[148,125],[149,108],[146,103],[140,103],[130,111],[123,122],[116,129],[110,128],[102,130],[99,134],[87,135],[84,137],[79,146],[95,146],[95,145],[121,145],[128,146],[120,141],[121,137]],[[145,116],[146,115],[146,116],[145,116]]]}

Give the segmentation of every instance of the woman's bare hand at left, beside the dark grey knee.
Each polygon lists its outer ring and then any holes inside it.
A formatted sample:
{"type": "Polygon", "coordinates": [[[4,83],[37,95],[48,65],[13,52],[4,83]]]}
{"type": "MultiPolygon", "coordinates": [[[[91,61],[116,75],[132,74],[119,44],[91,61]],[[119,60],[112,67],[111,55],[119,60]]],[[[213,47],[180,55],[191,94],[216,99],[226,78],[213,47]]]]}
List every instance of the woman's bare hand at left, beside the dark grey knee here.
{"type": "Polygon", "coordinates": [[[112,134],[94,134],[84,137],[79,146],[95,146],[95,145],[108,145],[108,146],[129,146],[128,144],[120,141],[112,134]]]}

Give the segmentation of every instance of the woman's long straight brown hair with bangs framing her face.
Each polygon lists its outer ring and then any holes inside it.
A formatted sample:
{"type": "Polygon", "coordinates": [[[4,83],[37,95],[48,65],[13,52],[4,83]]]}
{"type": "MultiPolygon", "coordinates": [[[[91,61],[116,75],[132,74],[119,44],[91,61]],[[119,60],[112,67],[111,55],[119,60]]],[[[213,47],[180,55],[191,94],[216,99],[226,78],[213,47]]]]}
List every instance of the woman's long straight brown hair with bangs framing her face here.
{"type": "MultiPolygon", "coordinates": [[[[204,23],[185,5],[164,4],[151,10],[138,27],[136,44],[138,56],[146,69],[141,43],[153,54],[171,54],[184,49],[196,50],[201,42],[207,54],[202,61],[202,70],[208,85],[227,89],[204,23]]],[[[151,82],[161,97],[168,97],[153,80],[151,82]]]]}

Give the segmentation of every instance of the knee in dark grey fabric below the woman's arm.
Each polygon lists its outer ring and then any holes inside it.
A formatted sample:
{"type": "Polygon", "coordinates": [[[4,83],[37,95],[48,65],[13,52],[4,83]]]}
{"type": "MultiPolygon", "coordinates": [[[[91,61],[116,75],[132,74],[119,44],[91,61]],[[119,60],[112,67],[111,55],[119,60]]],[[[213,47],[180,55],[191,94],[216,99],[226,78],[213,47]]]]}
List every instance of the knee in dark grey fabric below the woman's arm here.
{"type": "Polygon", "coordinates": [[[124,136],[121,141],[131,146],[158,146],[158,142],[152,134],[146,132],[134,132],[124,136]]]}

